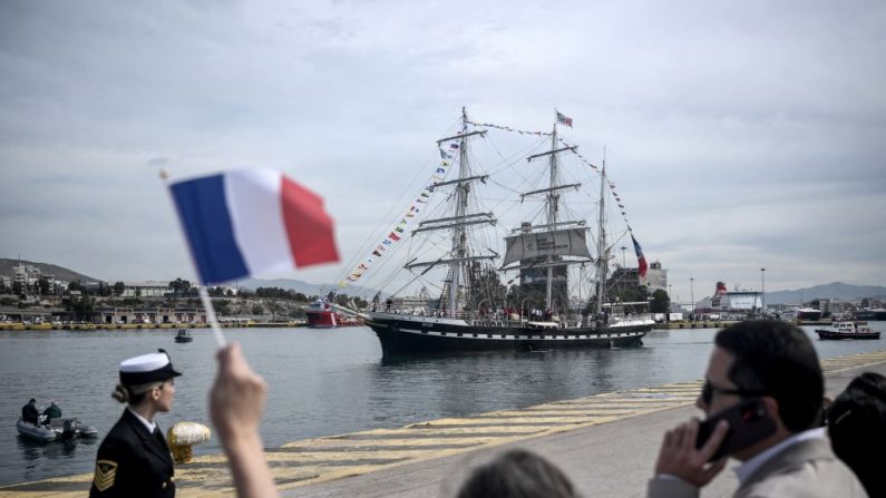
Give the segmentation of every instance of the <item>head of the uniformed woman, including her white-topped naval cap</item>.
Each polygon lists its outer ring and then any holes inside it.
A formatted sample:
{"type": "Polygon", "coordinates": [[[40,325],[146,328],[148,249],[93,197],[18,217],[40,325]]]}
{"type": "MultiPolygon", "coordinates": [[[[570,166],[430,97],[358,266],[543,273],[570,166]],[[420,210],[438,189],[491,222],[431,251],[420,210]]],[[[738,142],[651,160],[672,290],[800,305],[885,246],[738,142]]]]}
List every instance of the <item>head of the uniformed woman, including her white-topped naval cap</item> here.
{"type": "Polygon", "coordinates": [[[169,411],[175,398],[175,378],[179,375],[166,351],[142,354],[120,363],[120,382],[111,396],[132,407],[169,411]]]}

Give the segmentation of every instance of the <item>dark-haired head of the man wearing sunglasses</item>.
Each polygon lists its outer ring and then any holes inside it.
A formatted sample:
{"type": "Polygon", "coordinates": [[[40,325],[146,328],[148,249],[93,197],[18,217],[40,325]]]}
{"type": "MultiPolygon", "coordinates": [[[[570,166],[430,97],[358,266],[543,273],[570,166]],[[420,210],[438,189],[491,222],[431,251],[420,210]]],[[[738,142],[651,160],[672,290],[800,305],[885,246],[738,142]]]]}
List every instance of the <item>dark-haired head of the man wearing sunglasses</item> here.
{"type": "Polygon", "coordinates": [[[699,408],[710,414],[759,397],[786,432],[816,426],[825,380],[802,330],[786,322],[740,322],[718,332],[714,345],[699,408]]]}

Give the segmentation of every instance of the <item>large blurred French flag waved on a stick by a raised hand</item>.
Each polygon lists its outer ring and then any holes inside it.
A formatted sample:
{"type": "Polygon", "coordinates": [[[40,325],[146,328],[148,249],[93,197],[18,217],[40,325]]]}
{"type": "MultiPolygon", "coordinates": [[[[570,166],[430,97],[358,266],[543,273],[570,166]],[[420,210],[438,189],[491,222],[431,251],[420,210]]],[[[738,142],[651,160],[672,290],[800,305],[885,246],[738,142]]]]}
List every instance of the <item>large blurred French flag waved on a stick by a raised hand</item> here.
{"type": "Polygon", "coordinates": [[[204,284],[339,261],[323,199],[280,172],[232,170],[169,189],[204,284]]]}

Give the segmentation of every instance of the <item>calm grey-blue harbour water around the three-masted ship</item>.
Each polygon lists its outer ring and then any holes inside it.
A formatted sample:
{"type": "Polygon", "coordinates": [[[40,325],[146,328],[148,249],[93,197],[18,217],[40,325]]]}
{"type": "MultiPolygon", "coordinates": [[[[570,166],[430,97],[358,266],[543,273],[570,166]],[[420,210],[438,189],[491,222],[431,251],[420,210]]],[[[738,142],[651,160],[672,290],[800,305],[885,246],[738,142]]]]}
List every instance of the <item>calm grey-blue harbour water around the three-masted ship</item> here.
{"type": "MultiPolygon", "coordinates": [[[[886,322],[872,323],[886,331],[886,322]]],[[[814,328],[805,328],[810,336],[814,328]]],[[[227,329],[269,384],[262,436],[266,447],[358,430],[458,417],[702,377],[714,329],[654,331],[645,346],[535,354],[382,359],[367,328],[340,330],[227,329]]],[[[177,344],[174,331],[0,332],[0,486],[90,472],[99,440],[37,445],[16,420],[36,398],[56,400],[66,417],[99,430],[121,406],[110,398],[123,359],[164,348],[184,377],[162,428],[191,420],[210,424],[206,394],[215,374],[208,331],[177,344]]],[[[814,341],[822,358],[875,351],[883,341],[814,341]]],[[[220,452],[216,441],[196,453],[220,452]]]]}

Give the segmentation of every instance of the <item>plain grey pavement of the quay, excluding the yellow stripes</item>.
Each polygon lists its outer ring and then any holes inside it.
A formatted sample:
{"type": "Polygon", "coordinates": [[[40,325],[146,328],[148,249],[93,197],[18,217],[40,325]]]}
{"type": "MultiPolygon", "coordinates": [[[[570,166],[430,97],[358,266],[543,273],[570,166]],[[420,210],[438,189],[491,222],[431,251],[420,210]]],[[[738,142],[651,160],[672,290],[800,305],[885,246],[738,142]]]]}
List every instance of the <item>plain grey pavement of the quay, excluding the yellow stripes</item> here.
{"type": "MultiPolygon", "coordinates": [[[[886,375],[886,351],[824,360],[822,368],[826,392],[834,398],[861,372],[874,371],[886,375]]],[[[701,388],[700,382],[697,385],[701,388]]],[[[673,388],[679,391],[680,384],[631,392],[642,394],[659,390],[662,396],[668,396],[665,393],[671,390],[675,396],[674,401],[680,400],[674,407],[652,409],[635,416],[626,413],[600,423],[585,423],[573,430],[486,445],[467,453],[447,455],[361,476],[295,487],[284,490],[283,496],[452,497],[474,466],[509,449],[523,448],[544,456],[563,469],[582,496],[644,497],[664,432],[691,417],[701,416],[694,408],[698,390],[691,390],[691,399],[688,399],[676,394],[673,388]]],[[[738,487],[732,472],[737,465],[736,460],[730,460],[728,468],[703,489],[702,496],[731,497],[738,487]]]]}

